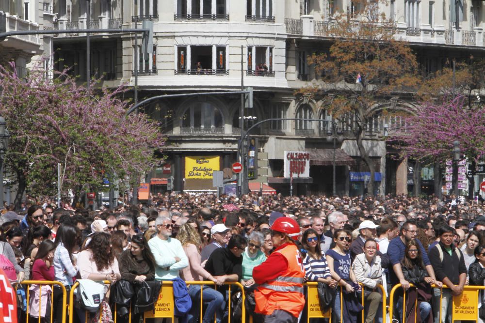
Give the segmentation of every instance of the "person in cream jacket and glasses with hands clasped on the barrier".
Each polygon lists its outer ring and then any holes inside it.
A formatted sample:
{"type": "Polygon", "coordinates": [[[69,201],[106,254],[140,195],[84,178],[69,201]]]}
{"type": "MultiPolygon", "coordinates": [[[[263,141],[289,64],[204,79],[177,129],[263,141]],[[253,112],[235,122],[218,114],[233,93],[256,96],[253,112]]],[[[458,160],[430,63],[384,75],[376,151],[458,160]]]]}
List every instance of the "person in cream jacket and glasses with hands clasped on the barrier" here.
{"type": "Polygon", "coordinates": [[[377,243],[372,239],[367,239],[362,246],[363,253],[356,255],[352,263],[352,271],[356,281],[364,285],[362,292],[365,298],[367,314],[365,323],[372,323],[374,317],[382,317],[382,312],[377,313],[382,295],[376,290],[378,284],[382,282],[381,257],[377,255],[377,243]]]}

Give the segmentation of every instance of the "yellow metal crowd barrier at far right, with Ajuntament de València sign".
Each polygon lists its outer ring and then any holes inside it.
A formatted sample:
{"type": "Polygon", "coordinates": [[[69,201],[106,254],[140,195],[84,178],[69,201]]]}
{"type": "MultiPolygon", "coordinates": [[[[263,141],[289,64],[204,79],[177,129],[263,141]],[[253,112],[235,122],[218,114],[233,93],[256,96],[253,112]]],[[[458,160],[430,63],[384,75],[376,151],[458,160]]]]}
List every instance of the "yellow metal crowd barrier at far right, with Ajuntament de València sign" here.
{"type": "MultiPolygon", "coordinates": [[[[409,284],[411,288],[416,288],[415,285],[409,284]]],[[[431,285],[432,288],[439,288],[436,285],[431,285]]],[[[394,285],[390,294],[389,294],[389,318],[392,320],[392,314],[394,311],[394,294],[397,289],[402,288],[401,284],[394,285]]],[[[449,288],[446,285],[439,288],[441,290],[439,295],[439,321],[441,323],[441,303],[443,300],[443,288],[449,288]]],[[[454,321],[476,321],[478,322],[478,304],[481,303],[479,299],[479,291],[485,290],[485,286],[469,286],[466,285],[463,288],[463,293],[458,296],[452,297],[452,323],[454,321]]],[[[433,299],[433,292],[432,292],[432,299],[433,299]]],[[[482,305],[484,306],[484,305],[482,305]]],[[[417,320],[417,307],[418,307],[418,300],[416,299],[415,302],[415,323],[417,320]]],[[[403,321],[405,323],[405,313],[406,313],[406,292],[403,293],[403,321]]],[[[433,313],[433,308],[431,313],[433,313]]]]}

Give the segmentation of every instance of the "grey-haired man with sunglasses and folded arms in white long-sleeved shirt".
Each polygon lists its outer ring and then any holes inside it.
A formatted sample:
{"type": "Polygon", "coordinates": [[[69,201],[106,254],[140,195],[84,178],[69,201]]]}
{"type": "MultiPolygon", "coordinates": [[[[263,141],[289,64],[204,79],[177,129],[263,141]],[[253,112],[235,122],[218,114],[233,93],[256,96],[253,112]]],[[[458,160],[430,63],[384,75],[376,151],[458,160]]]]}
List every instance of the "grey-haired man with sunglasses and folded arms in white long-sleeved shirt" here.
{"type": "Polygon", "coordinates": [[[157,236],[148,241],[150,251],[155,258],[155,279],[172,280],[179,277],[179,271],[189,265],[180,241],[170,237],[172,220],[159,216],[155,221],[157,236]]]}

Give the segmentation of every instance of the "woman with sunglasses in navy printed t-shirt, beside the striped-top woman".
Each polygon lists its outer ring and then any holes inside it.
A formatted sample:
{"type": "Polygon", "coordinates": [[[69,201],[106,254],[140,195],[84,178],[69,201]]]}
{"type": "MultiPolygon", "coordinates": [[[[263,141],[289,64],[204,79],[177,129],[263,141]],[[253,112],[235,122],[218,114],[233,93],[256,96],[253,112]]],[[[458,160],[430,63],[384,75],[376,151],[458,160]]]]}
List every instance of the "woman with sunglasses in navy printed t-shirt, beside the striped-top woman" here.
{"type": "MultiPolygon", "coordinates": [[[[329,249],[325,254],[332,278],[335,279],[337,284],[341,286],[342,289],[345,289],[347,293],[355,291],[351,283],[356,281],[351,268],[349,252],[350,242],[352,240],[351,236],[352,234],[350,231],[344,229],[336,230],[333,235],[335,247],[329,249]]],[[[340,297],[340,288],[337,288],[334,302],[332,304],[332,321],[336,323],[343,320],[343,318],[340,317],[340,297]]],[[[343,304],[345,304],[345,302],[343,302],[343,304]]]]}

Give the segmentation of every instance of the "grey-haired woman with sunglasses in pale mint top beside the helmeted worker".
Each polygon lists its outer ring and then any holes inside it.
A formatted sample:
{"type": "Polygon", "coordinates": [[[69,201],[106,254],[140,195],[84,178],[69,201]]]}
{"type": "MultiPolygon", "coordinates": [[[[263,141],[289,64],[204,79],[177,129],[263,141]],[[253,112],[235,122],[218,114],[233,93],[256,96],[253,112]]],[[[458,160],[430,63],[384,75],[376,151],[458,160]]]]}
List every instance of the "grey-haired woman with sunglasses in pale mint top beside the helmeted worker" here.
{"type": "Polygon", "coordinates": [[[253,231],[249,235],[249,243],[242,254],[242,286],[250,287],[254,285],[253,268],[266,260],[266,256],[261,251],[263,245],[263,235],[253,231]]]}

